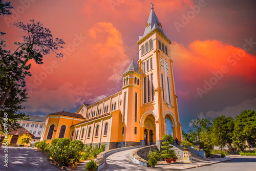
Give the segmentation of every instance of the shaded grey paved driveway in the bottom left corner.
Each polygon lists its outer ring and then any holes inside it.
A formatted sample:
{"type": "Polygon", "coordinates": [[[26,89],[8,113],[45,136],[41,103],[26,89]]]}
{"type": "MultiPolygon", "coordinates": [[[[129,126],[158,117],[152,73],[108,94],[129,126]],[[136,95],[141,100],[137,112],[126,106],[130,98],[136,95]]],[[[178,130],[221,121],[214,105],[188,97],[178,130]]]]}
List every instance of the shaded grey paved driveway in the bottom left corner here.
{"type": "Polygon", "coordinates": [[[8,147],[8,167],[4,166],[4,147],[0,148],[0,170],[41,171],[61,169],[49,163],[47,157],[32,147],[8,147]]]}

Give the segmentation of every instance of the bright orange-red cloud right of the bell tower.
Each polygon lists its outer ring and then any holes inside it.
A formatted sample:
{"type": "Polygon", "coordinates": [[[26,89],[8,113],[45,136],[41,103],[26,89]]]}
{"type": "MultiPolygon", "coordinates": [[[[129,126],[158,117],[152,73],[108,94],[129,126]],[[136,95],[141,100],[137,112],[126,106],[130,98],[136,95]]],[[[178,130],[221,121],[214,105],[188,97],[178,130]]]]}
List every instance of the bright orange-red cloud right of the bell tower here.
{"type": "Polygon", "coordinates": [[[244,83],[256,81],[256,56],[241,48],[217,40],[198,40],[188,48],[173,42],[171,50],[175,79],[179,84],[178,94],[182,98],[202,97],[209,90],[224,90],[227,85],[220,82],[233,78],[244,83]],[[203,91],[201,95],[199,89],[203,91]]]}

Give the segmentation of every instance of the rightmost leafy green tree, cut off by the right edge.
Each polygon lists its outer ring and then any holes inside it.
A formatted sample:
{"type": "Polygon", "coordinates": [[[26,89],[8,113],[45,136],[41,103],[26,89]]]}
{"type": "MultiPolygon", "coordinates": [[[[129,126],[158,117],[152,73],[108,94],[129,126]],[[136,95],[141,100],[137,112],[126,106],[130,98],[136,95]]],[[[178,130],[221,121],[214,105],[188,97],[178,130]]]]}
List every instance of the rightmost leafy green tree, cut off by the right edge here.
{"type": "Polygon", "coordinates": [[[242,150],[246,141],[250,148],[256,147],[256,112],[253,110],[244,110],[234,119],[234,145],[242,150]]]}

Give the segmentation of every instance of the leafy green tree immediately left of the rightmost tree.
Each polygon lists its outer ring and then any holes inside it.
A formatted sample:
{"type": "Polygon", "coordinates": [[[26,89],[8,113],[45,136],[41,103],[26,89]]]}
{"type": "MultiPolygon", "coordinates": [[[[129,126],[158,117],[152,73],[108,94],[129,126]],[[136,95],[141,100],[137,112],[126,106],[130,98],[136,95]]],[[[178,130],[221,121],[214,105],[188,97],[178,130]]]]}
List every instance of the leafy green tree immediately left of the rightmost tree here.
{"type": "Polygon", "coordinates": [[[234,130],[234,119],[225,116],[218,116],[214,119],[211,126],[211,140],[213,145],[228,145],[229,150],[233,151],[232,148],[232,136],[234,130]]]}

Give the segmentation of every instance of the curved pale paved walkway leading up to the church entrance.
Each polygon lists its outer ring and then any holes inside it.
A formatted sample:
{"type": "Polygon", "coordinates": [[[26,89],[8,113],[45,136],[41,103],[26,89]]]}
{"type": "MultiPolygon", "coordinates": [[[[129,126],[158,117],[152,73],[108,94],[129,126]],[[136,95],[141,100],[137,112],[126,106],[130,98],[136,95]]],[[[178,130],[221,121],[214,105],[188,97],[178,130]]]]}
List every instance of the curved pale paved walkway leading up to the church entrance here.
{"type": "Polygon", "coordinates": [[[148,167],[144,167],[142,165],[136,164],[132,161],[132,153],[133,149],[127,149],[125,151],[117,152],[106,158],[106,165],[102,170],[158,170],[152,169],[148,167]]]}

